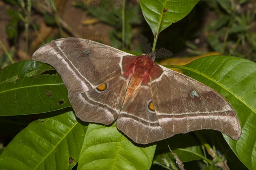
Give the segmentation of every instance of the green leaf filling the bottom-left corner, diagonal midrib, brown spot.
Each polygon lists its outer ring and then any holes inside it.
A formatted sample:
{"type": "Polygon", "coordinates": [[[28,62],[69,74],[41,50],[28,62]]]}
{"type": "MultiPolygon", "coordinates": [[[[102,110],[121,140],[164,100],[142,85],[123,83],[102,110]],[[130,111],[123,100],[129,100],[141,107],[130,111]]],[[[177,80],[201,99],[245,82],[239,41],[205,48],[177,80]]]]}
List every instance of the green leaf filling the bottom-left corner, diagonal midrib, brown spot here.
{"type": "Polygon", "coordinates": [[[8,144],[0,157],[0,169],[70,170],[79,159],[86,129],[73,112],[38,119],[8,144]]]}

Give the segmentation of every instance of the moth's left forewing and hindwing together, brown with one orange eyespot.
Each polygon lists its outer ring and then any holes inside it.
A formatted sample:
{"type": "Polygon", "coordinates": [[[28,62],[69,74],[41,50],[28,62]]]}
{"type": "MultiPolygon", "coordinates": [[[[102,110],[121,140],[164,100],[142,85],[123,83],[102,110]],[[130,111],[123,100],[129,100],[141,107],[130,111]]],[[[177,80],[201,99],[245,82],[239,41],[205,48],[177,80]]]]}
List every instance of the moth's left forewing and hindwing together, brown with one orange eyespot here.
{"type": "Polygon", "coordinates": [[[76,116],[86,122],[113,123],[122,107],[128,80],[122,58],[131,54],[79,38],[54,40],[32,59],[52,65],[68,89],[76,116]]]}

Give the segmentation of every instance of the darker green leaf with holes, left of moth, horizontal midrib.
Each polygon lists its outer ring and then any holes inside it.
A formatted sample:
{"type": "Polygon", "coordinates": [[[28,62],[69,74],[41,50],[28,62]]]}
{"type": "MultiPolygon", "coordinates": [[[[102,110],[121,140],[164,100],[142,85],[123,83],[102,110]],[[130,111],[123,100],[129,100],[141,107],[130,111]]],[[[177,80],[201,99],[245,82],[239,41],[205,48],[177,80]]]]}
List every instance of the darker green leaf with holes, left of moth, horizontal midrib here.
{"type": "Polygon", "coordinates": [[[22,61],[0,70],[0,116],[44,113],[71,107],[67,89],[54,68],[22,61]]]}

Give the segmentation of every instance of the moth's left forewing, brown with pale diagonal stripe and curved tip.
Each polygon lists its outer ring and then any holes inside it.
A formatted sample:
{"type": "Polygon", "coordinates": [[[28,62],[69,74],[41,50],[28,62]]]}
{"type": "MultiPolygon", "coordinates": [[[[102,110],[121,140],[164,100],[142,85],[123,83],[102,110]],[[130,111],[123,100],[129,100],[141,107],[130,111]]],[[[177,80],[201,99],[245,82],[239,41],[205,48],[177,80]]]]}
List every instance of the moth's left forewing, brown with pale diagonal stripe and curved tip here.
{"type": "Polygon", "coordinates": [[[98,42],[63,38],[39,48],[32,59],[52,65],[69,91],[82,93],[120,76],[120,62],[127,55],[98,42]]]}

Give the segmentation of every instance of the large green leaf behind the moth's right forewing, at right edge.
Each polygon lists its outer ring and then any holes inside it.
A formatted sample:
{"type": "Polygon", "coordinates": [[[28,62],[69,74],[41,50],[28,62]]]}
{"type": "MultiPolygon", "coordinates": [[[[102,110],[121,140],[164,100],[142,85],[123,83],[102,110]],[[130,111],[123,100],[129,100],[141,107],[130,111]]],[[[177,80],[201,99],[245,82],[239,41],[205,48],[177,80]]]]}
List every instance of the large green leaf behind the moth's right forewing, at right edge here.
{"type": "Polygon", "coordinates": [[[242,134],[239,140],[223,134],[224,138],[246,167],[256,169],[256,63],[238,57],[210,56],[177,68],[215,89],[232,104],[242,134]]]}

